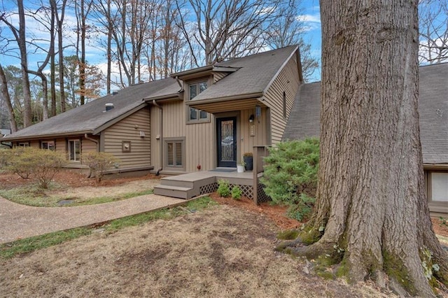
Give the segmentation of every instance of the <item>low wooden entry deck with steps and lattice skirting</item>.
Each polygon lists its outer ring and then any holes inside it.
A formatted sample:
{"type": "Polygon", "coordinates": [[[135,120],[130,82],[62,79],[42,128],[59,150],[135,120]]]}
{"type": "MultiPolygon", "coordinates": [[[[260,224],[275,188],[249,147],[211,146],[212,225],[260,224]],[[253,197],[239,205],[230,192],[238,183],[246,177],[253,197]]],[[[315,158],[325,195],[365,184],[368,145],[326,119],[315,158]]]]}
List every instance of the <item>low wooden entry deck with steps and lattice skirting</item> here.
{"type": "Polygon", "coordinates": [[[191,199],[201,194],[209,194],[218,188],[218,180],[227,180],[228,183],[239,185],[246,197],[253,198],[253,173],[251,171],[237,173],[235,171],[198,171],[179,176],[165,177],[160,185],[154,187],[154,193],[167,197],[191,199]]]}

